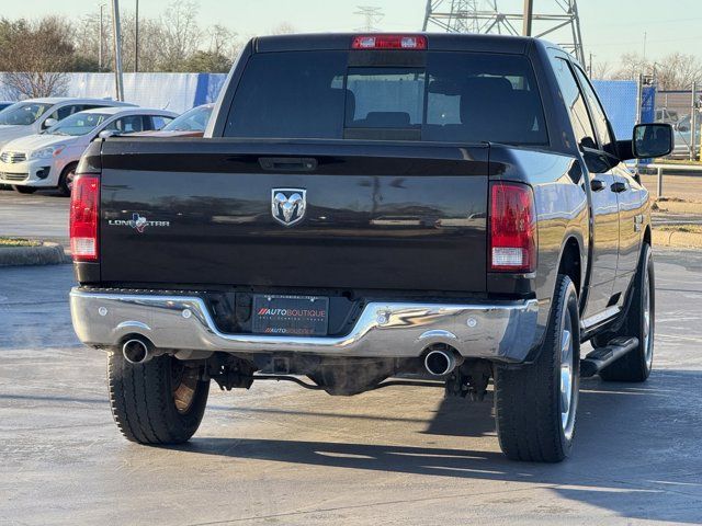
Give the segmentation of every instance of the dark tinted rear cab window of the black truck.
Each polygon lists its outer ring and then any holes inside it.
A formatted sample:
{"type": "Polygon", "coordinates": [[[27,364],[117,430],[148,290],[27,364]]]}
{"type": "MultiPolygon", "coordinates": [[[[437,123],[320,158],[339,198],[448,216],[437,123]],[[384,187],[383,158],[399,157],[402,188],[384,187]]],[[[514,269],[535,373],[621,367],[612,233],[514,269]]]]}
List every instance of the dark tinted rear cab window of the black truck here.
{"type": "Polygon", "coordinates": [[[548,142],[523,55],[429,50],[420,65],[366,66],[354,53],[374,52],[252,55],[225,137],[548,142]]]}

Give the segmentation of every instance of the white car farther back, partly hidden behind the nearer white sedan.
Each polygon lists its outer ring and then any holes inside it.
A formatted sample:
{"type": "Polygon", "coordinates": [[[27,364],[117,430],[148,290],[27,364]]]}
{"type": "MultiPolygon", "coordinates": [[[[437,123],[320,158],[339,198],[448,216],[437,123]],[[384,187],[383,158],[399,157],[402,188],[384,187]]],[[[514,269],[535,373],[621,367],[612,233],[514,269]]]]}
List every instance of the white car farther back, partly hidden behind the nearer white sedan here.
{"type": "Polygon", "coordinates": [[[9,141],[50,128],[59,121],[92,107],[131,106],[109,99],[49,96],[15,102],[0,112],[0,149],[9,141]]]}

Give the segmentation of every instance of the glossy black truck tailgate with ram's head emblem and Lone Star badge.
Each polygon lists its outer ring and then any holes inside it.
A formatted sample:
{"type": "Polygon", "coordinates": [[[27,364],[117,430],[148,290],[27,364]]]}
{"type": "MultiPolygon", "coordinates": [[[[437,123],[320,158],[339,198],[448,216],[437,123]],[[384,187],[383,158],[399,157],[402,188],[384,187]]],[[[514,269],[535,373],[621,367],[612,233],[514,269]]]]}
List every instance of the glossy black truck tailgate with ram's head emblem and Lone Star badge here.
{"type": "Polygon", "coordinates": [[[487,175],[487,146],[110,139],[101,278],[484,291],[487,175]]]}

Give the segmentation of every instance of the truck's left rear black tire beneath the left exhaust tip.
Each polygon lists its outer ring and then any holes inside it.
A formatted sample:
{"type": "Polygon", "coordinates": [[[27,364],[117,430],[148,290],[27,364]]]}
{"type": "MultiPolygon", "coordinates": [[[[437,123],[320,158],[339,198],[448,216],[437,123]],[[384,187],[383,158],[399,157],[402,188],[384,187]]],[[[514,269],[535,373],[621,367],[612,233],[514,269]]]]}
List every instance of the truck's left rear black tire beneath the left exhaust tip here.
{"type": "Polygon", "coordinates": [[[195,434],[207,404],[210,380],[172,356],[131,364],[115,350],[107,357],[110,405],[127,441],[181,444],[195,434]]]}

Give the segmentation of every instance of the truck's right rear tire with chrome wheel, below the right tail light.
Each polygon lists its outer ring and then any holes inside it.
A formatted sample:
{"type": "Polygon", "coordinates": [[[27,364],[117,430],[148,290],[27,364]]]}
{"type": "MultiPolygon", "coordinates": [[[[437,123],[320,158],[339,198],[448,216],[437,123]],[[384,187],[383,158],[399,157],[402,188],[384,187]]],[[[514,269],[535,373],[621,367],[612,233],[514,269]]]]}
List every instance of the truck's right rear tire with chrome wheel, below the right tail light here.
{"type": "Polygon", "coordinates": [[[559,462],[570,455],[580,377],[578,296],[573,281],[558,275],[539,358],[495,371],[497,436],[512,460],[559,462]]]}

